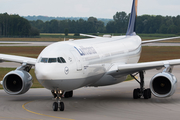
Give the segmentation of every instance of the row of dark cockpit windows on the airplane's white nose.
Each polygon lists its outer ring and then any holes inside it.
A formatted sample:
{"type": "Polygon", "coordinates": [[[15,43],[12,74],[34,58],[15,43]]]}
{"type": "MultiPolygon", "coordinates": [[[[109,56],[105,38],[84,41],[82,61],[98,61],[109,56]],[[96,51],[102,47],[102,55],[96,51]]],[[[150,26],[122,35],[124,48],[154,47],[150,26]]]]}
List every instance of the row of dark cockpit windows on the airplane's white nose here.
{"type": "Polygon", "coordinates": [[[41,58],[41,63],[66,63],[63,57],[58,58],[41,58]]]}

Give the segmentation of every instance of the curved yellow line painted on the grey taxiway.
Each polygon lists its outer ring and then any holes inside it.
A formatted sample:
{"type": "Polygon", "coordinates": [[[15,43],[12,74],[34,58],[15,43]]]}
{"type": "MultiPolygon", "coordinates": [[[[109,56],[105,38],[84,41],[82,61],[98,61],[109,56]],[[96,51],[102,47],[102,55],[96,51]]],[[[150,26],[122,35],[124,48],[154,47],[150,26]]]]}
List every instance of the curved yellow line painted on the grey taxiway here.
{"type": "Polygon", "coordinates": [[[69,118],[63,118],[63,117],[57,117],[57,116],[51,116],[51,115],[46,115],[46,114],[41,114],[41,113],[37,113],[37,112],[34,112],[34,111],[30,111],[28,109],[25,108],[25,105],[31,103],[33,101],[30,101],[30,102],[27,102],[25,104],[22,105],[22,108],[24,110],[26,110],[27,112],[30,112],[30,113],[33,113],[33,114],[36,114],[36,115],[41,115],[41,116],[46,116],[46,117],[51,117],[51,118],[57,118],[57,119],[63,119],[63,120],[74,120],[74,119],[69,119],[69,118]]]}

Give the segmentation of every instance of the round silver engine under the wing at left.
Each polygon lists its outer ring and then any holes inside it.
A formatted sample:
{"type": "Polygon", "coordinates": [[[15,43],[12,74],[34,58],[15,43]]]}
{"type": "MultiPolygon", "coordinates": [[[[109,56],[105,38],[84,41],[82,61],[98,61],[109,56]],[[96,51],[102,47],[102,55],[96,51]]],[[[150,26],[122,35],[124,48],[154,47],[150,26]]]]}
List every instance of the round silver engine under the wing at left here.
{"type": "Polygon", "coordinates": [[[4,91],[10,95],[26,93],[31,86],[32,76],[26,71],[11,71],[3,78],[4,91]]]}

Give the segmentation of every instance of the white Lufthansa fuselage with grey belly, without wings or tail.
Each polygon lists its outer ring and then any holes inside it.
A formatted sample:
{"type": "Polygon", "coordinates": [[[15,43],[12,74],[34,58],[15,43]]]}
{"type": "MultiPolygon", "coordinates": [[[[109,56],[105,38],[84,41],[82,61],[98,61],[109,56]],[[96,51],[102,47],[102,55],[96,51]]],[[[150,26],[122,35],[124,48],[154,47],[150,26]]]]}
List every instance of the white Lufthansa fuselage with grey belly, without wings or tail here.
{"type": "Polygon", "coordinates": [[[117,69],[116,64],[137,63],[140,53],[141,38],[136,35],[57,42],[41,52],[35,74],[50,90],[112,85],[127,75],[107,73],[117,69]]]}

